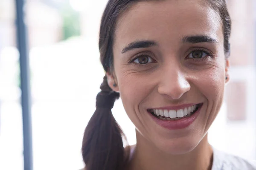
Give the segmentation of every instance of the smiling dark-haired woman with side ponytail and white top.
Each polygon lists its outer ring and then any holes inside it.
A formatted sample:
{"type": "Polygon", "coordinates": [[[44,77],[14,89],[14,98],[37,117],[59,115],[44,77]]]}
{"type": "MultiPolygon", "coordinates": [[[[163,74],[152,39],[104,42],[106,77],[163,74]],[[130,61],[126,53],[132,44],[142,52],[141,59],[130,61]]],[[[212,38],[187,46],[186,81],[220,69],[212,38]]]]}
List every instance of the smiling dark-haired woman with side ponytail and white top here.
{"type": "Polygon", "coordinates": [[[86,170],[255,169],[207,141],[230,79],[230,30],[225,0],[109,0],[99,37],[106,76],[82,145],[86,170]],[[136,146],[123,147],[111,113],[119,95],[136,146]]]}

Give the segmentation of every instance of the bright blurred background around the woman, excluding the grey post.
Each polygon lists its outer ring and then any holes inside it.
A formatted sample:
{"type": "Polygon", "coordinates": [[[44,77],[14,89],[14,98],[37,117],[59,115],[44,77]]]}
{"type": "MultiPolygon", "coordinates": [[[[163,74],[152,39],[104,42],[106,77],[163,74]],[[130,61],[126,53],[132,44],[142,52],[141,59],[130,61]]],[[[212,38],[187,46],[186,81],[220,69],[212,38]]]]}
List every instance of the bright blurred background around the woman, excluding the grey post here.
{"type": "MultiPolygon", "coordinates": [[[[84,167],[81,141],[104,71],[98,34],[107,0],[26,0],[34,170],[84,167]]],[[[209,130],[217,149],[256,160],[256,1],[228,0],[233,20],[231,81],[209,130]]],[[[0,170],[23,170],[15,0],[0,0],[0,170]]],[[[113,114],[136,143],[118,100],[113,114]]]]}

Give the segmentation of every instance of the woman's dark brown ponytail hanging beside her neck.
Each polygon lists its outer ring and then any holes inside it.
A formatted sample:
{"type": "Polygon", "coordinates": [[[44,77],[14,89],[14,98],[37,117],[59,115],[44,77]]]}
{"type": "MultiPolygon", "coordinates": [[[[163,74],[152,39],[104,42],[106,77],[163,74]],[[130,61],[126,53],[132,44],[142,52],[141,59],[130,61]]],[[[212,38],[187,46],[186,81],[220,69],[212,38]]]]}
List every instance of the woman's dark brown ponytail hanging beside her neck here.
{"type": "Polygon", "coordinates": [[[96,111],[84,131],[82,156],[86,170],[121,170],[125,162],[122,130],[111,109],[119,93],[108,86],[107,77],[96,97],[96,111]]]}

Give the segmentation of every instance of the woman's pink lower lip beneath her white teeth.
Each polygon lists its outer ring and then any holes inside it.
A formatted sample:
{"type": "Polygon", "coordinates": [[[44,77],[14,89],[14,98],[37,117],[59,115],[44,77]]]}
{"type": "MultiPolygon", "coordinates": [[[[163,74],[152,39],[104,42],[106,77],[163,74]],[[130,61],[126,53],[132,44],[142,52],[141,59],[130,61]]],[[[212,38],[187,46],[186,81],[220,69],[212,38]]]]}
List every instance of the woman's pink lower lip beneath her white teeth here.
{"type": "Polygon", "coordinates": [[[151,118],[160,126],[169,129],[169,130],[177,130],[177,129],[183,129],[191,125],[195,119],[198,117],[200,110],[202,108],[202,105],[198,108],[198,110],[192,114],[189,117],[184,117],[182,119],[178,120],[161,120],[157,117],[153,116],[152,113],[149,113],[151,118]]]}

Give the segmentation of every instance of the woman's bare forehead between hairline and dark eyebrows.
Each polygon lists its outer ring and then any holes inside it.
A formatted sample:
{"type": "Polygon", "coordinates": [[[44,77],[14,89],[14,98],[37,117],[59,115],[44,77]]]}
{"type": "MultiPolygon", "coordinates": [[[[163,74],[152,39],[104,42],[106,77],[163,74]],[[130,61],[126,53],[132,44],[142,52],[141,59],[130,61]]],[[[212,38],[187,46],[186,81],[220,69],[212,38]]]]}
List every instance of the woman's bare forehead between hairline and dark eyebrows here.
{"type": "Polygon", "coordinates": [[[223,41],[221,19],[203,0],[139,1],[119,17],[114,47],[134,40],[173,43],[189,35],[223,41]]]}

